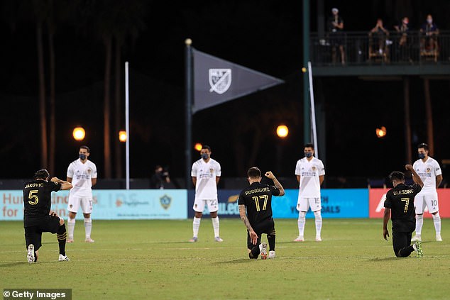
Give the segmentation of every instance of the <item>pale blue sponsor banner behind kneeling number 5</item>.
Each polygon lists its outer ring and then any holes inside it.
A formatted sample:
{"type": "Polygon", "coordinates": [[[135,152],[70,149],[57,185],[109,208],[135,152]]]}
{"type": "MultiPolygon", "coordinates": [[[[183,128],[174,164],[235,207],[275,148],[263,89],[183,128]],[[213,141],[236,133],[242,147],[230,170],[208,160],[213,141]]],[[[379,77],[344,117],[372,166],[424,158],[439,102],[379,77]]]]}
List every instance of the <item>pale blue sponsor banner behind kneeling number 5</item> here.
{"type": "MultiPolygon", "coordinates": [[[[0,221],[23,220],[23,191],[0,191],[0,221]]],[[[92,191],[96,220],[187,218],[185,189],[116,189],[92,191]]],[[[67,219],[69,191],[52,193],[52,210],[67,219]]],[[[81,208],[77,219],[82,220],[81,208]]]]}

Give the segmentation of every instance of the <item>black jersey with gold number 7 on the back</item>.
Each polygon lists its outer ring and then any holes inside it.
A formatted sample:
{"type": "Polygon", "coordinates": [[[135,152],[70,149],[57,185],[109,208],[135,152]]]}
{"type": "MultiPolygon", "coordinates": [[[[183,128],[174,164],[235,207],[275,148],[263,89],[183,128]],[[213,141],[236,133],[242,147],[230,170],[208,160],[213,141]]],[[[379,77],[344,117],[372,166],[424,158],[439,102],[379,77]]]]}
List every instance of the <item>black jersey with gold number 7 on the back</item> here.
{"type": "Polygon", "coordinates": [[[385,207],[390,209],[390,218],[393,229],[397,231],[412,232],[415,229],[414,197],[422,187],[419,184],[397,184],[386,194],[385,207]],[[414,225],[413,225],[414,224],[414,225]]]}

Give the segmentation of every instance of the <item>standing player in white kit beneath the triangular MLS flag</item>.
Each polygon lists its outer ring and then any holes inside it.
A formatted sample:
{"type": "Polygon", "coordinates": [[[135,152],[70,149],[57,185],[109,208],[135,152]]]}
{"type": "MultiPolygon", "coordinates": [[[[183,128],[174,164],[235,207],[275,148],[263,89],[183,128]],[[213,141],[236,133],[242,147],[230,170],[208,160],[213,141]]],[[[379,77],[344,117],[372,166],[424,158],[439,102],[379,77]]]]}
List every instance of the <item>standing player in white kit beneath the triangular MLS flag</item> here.
{"type": "Polygon", "coordinates": [[[211,158],[211,148],[208,145],[202,146],[200,155],[202,158],[194,162],[191,170],[192,182],[195,187],[193,207],[195,216],[192,222],[194,235],[189,241],[192,243],[197,242],[202,213],[204,206],[207,205],[211,214],[212,227],[214,228],[214,240],[223,242],[219,235],[219,217],[217,216],[217,211],[219,210],[217,184],[221,175],[220,164],[211,158]]]}

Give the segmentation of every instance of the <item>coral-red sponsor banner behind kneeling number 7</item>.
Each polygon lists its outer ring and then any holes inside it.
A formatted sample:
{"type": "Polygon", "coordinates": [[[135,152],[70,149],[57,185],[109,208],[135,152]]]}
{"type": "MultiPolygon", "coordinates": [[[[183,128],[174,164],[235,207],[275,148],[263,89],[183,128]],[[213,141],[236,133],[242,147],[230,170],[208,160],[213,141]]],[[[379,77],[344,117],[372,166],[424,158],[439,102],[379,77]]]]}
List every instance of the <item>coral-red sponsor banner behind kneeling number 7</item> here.
{"type": "MultiPolygon", "coordinates": [[[[383,218],[386,193],[389,189],[370,189],[369,190],[369,218],[383,218]]],[[[450,218],[450,189],[437,189],[439,199],[439,216],[441,218],[450,218]]],[[[432,214],[425,207],[424,218],[431,218],[432,214]]]]}

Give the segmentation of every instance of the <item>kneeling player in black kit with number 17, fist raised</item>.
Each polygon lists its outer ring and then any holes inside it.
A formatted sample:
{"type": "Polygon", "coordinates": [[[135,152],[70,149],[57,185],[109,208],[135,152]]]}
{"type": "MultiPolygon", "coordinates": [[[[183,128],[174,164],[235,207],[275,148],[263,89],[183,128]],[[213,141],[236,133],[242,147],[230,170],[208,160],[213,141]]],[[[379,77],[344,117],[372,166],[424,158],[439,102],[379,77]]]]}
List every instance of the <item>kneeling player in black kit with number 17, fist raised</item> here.
{"type": "Polygon", "coordinates": [[[275,223],[272,218],[272,196],[283,196],[285,189],[272,172],[266,172],[265,177],[273,180],[272,185],[261,184],[261,171],[251,167],[247,172],[250,186],[241,191],[238,199],[239,214],[247,228],[248,257],[267,258],[267,244],[260,243],[261,235],[267,234],[269,242],[269,258],[275,258],[275,223]]]}

